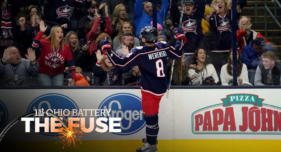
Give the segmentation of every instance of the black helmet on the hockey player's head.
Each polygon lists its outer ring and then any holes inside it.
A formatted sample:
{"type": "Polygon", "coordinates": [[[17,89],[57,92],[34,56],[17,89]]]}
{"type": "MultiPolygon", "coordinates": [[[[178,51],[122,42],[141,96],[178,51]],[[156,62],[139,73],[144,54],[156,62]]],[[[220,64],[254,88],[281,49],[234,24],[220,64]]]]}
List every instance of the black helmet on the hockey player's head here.
{"type": "Polygon", "coordinates": [[[157,39],[158,32],[152,26],[145,26],[140,31],[140,38],[145,38],[145,43],[154,43],[157,39]]]}

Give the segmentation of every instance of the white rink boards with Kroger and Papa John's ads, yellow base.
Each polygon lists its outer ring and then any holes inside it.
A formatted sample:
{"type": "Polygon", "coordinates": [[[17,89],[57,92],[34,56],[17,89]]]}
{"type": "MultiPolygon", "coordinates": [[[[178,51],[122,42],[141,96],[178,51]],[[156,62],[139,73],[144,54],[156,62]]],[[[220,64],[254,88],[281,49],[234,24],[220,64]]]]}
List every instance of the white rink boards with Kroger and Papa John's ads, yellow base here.
{"type": "MultiPolygon", "coordinates": [[[[159,108],[158,149],[164,151],[281,151],[280,89],[171,89],[159,108]]],[[[135,151],[145,137],[140,89],[2,89],[0,129],[35,109],[111,109],[122,132],[84,133],[78,149],[62,149],[56,133],[25,132],[18,122],[2,143],[21,151],[135,151]],[[16,136],[15,136],[16,135],[16,136]],[[30,146],[32,145],[32,146],[30,146]],[[16,148],[14,147],[14,148],[16,148]]],[[[85,126],[89,127],[89,111],[85,126]]],[[[74,117],[74,116],[73,116],[74,117]]],[[[44,120],[44,119],[40,119],[44,120]]],[[[41,121],[40,123],[44,123],[41,121]]],[[[97,127],[97,126],[95,126],[97,127]]],[[[0,143],[1,144],[1,143],[0,143]]]]}

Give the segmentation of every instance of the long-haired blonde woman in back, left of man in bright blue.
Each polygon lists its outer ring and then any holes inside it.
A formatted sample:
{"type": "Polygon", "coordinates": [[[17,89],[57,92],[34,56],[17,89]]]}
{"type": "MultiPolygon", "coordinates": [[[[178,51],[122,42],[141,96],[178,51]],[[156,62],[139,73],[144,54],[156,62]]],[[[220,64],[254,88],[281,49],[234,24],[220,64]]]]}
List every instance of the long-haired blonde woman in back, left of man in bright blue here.
{"type": "Polygon", "coordinates": [[[124,21],[127,21],[131,24],[131,33],[135,33],[134,23],[131,21],[128,17],[127,11],[125,9],[124,4],[118,4],[114,8],[113,12],[113,20],[112,20],[112,34],[111,37],[115,38],[117,34],[119,34],[121,28],[121,25],[124,21]]]}

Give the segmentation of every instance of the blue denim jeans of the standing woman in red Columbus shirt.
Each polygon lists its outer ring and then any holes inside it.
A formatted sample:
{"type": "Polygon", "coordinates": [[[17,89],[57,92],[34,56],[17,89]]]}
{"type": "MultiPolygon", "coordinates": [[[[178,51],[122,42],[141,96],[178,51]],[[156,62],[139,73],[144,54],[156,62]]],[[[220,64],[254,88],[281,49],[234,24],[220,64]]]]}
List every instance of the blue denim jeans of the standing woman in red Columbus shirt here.
{"type": "Polygon", "coordinates": [[[37,82],[39,86],[62,86],[63,74],[48,75],[43,73],[36,74],[37,82]]]}

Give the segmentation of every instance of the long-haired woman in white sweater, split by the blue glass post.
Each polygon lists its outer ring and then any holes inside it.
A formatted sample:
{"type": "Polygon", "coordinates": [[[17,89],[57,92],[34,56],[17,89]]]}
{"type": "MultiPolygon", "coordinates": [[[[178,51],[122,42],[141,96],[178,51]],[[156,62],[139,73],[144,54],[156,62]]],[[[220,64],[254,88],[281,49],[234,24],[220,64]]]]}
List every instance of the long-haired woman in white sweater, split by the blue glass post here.
{"type": "MultiPolygon", "coordinates": [[[[222,66],[220,72],[220,80],[223,86],[233,85],[232,62],[233,54],[232,49],[230,49],[228,52],[227,64],[222,66]]],[[[247,66],[242,63],[239,52],[237,52],[237,82],[238,85],[252,85],[249,83],[247,66]]]]}

